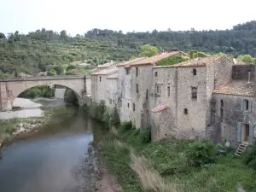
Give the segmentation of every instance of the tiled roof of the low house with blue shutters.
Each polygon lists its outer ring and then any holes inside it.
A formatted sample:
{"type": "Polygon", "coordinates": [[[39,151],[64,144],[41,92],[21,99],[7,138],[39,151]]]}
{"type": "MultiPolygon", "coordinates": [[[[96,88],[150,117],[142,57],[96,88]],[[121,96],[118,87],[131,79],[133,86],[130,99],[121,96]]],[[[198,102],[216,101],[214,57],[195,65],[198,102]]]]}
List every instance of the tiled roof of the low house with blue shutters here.
{"type": "Polygon", "coordinates": [[[233,95],[233,96],[255,96],[254,90],[256,86],[254,84],[247,84],[247,81],[234,80],[228,84],[224,84],[218,89],[213,90],[215,94],[233,95]]]}

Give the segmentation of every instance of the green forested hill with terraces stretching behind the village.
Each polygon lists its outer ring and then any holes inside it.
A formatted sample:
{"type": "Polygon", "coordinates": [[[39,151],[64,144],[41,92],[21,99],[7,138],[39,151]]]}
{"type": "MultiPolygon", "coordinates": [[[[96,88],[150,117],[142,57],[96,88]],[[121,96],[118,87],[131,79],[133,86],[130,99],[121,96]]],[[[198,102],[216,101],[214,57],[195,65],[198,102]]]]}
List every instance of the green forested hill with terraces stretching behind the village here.
{"type": "MultiPolygon", "coordinates": [[[[181,23],[182,25],[182,23],[181,23]]],[[[129,60],[140,46],[151,44],[159,49],[201,50],[210,54],[249,54],[256,56],[256,20],[225,31],[116,32],[93,29],[76,37],[66,31],[37,30],[29,34],[0,32],[0,73],[14,70],[35,74],[45,69],[84,61],[93,65],[106,61],[129,60]]]]}

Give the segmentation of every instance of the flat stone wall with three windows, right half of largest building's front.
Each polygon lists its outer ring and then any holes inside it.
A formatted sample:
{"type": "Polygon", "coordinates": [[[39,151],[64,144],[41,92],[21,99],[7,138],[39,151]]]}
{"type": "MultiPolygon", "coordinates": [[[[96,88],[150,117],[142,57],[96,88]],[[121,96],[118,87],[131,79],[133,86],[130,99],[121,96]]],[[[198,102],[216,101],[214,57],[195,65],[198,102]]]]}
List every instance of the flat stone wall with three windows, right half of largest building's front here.
{"type": "Polygon", "coordinates": [[[177,68],[177,137],[205,137],[207,111],[207,67],[177,68]],[[193,74],[196,70],[196,75],[193,74]],[[192,87],[197,98],[192,98],[192,87]],[[185,113],[187,110],[187,113],[185,113]]]}

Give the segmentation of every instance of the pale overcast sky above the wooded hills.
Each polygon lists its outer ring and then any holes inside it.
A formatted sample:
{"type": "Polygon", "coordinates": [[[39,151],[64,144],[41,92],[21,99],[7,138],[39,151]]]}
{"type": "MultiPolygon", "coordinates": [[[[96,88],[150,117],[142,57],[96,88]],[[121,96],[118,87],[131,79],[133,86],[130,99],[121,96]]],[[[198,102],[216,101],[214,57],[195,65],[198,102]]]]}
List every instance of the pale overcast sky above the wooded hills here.
{"type": "Polygon", "coordinates": [[[256,20],[255,7],[255,0],[0,0],[0,32],[224,30],[256,20]]]}

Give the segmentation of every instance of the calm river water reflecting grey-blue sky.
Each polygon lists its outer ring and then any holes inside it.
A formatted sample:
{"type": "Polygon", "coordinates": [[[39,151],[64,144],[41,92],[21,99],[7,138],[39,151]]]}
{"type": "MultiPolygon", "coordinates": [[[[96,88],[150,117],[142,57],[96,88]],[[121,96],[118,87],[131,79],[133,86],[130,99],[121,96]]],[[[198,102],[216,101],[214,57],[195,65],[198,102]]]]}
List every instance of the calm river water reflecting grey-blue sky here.
{"type": "MultiPolygon", "coordinates": [[[[86,189],[84,167],[96,122],[82,113],[59,117],[44,129],[17,138],[0,160],[1,192],[79,192],[86,189]]],[[[90,184],[88,184],[90,185],[90,184]]]]}

